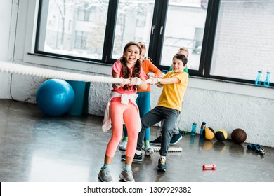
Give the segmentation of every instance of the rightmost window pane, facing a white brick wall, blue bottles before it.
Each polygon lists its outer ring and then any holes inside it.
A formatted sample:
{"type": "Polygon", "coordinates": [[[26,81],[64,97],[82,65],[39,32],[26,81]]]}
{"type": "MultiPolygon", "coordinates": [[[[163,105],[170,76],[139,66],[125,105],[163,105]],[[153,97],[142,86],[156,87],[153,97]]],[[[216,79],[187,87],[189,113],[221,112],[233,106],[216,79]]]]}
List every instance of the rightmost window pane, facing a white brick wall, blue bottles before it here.
{"type": "Polygon", "coordinates": [[[255,80],[274,73],[274,1],[221,1],[211,75],[255,80]]]}

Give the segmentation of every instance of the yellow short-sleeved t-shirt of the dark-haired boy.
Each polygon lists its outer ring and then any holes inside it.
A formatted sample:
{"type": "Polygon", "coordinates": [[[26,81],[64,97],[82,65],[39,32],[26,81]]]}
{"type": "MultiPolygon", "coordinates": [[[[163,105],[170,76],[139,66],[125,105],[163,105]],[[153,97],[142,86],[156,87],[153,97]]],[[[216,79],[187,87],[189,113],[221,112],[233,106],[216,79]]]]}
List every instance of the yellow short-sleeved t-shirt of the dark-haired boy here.
{"type": "Polygon", "coordinates": [[[164,85],[157,106],[164,106],[181,112],[183,96],[185,95],[188,86],[188,73],[175,73],[174,71],[169,71],[163,79],[173,77],[178,78],[181,83],[164,85]]]}

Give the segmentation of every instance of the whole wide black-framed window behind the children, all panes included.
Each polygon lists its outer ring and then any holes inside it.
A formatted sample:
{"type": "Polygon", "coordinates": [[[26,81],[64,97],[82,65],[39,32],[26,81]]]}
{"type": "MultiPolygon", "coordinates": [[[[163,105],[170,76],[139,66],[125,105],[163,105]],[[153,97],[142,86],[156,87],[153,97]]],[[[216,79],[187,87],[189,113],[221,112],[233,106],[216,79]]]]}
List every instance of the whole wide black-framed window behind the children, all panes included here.
{"type": "Polygon", "coordinates": [[[112,66],[128,41],[143,41],[162,70],[185,46],[190,76],[254,83],[259,70],[274,74],[273,1],[39,2],[35,52],[40,55],[112,66]]]}

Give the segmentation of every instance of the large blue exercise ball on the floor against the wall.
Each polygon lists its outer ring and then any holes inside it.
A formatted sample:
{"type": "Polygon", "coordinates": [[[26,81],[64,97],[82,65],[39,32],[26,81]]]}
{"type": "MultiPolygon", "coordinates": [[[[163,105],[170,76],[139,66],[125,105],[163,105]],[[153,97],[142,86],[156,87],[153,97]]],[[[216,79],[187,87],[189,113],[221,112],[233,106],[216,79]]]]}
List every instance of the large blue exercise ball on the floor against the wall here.
{"type": "Polygon", "coordinates": [[[74,90],[65,80],[50,79],[41,83],[36,93],[38,108],[50,116],[60,116],[74,103],[74,90]]]}

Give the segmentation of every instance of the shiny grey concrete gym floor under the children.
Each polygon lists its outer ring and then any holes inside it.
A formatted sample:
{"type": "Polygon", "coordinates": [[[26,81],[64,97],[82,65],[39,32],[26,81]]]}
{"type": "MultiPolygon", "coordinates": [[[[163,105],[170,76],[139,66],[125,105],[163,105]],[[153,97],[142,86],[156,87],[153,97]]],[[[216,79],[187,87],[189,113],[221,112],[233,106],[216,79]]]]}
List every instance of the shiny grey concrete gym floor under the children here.
{"type": "MultiPolygon", "coordinates": [[[[35,104],[0,99],[1,182],[98,182],[111,131],[101,130],[98,116],[58,116],[41,113],[35,104]]],[[[189,126],[191,127],[191,125],[189,126]]],[[[157,137],[151,129],[151,139],[157,137]]],[[[247,144],[216,139],[200,141],[183,135],[181,152],[167,156],[167,172],[157,171],[159,153],[133,163],[138,182],[273,182],[274,149],[263,146],[266,155],[247,150],[247,144]],[[202,170],[202,165],[216,170],[202,170]]],[[[124,162],[115,154],[111,171],[114,181],[124,162]]]]}

